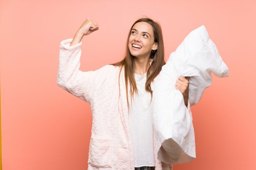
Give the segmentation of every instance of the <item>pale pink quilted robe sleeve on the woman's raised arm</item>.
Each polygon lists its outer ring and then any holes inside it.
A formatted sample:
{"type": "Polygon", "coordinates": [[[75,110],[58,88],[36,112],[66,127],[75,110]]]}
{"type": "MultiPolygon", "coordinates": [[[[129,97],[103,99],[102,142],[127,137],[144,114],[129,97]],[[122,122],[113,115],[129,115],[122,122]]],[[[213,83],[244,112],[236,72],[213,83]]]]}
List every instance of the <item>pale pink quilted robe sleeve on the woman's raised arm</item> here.
{"type": "Polygon", "coordinates": [[[80,68],[81,44],[70,46],[72,39],[63,40],[59,51],[57,84],[65,91],[90,102],[94,89],[104,77],[104,68],[97,71],[83,72],[80,68]]]}

